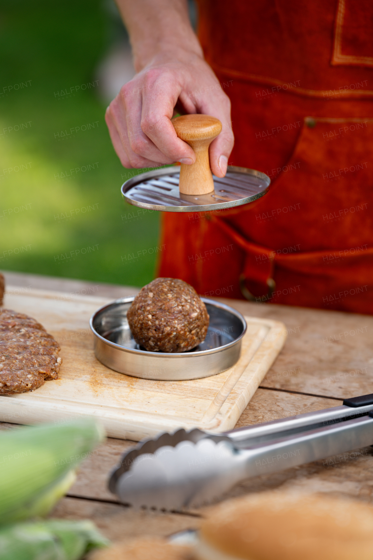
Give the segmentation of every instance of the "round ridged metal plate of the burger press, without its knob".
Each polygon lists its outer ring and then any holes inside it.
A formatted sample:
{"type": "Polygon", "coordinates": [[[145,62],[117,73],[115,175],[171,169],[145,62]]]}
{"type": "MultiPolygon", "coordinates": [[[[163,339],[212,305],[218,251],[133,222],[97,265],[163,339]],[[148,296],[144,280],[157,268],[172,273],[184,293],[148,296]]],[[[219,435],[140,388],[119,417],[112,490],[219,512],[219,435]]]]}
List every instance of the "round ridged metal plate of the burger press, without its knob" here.
{"type": "Polygon", "coordinates": [[[191,196],[179,192],[180,167],[147,171],[126,181],[121,192],[126,202],[163,212],[199,212],[241,206],[266,194],[271,179],[254,169],[229,166],[223,179],[214,178],[215,190],[191,196]]]}

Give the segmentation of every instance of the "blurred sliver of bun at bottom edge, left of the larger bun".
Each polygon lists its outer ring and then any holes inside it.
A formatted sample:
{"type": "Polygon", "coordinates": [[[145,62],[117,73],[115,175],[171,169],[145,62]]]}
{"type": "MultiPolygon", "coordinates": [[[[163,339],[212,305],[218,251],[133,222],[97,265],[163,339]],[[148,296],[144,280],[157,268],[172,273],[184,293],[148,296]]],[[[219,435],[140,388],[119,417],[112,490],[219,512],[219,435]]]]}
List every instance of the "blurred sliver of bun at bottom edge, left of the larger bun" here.
{"type": "Polygon", "coordinates": [[[189,560],[190,547],[166,539],[139,538],[95,551],[89,560],[189,560]]]}

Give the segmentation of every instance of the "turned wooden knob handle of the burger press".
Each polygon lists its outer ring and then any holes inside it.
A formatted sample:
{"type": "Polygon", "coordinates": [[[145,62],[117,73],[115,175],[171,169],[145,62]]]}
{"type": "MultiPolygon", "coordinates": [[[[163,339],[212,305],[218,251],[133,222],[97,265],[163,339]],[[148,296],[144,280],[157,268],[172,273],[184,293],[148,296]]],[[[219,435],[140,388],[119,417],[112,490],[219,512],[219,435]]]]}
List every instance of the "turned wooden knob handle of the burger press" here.
{"type": "Polygon", "coordinates": [[[181,164],[179,190],[183,194],[207,194],[214,190],[210,169],[209,146],[221,132],[221,122],[209,115],[183,115],[173,119],[176,134],[196,154],[192,165],[181,164]]]}

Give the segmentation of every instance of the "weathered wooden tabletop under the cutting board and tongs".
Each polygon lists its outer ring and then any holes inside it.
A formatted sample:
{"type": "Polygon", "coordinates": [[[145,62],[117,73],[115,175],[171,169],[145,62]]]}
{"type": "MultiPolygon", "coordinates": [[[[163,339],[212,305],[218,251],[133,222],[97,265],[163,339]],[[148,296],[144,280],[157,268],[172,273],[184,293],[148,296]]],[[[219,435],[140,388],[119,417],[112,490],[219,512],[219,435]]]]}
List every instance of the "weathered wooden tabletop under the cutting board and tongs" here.
{"type": "MultiPolygon", "coordinates": [[[[95,293],[91,291],[91,295],[113,299],[131,295],[126,287],[37,278],[35,275],[17,273],[6,274],[6,277],[11,279],[13,285],[23,286],[24,289],[30,285],[34,288],[82,293],[82,290],[91,288],[95,290],[95,293]],[[41,281],[44,283],[40,284],[41,281]],[[92,284],[98,286],[97,291],[92,284]]],[[[129,288],[131,292],[135,289],[129,288]]],[[[373,318],[370,316],[244,301],[221,301],[244,314],[284,321],[288,330],[284,350],[263,380],[264,388],[257,390],[244,410],[237,427],[338,406],[341,404],[338,399],[371,393],[373,318]],[[355,374],[352,374],[354,371],[355,374]],[[328,396],[333,399],[326,398],[328,396]]],[[[1,430],[14,428],[20,426],[5,423],[0,425],[1,430]]],[[[131,445],[133,442],[109,438],[98,447],[91,458],[81,465],[77,482],[69,491],[74,497],[61,500],[52,516],[92,519],[102,533],[113,540],[138,535],[167,536],[183,529],[197,528],[201,516],[209,508],[190,512],[190,515],[178,515],[135,512],[133,508],[115,503],[115,496],[106,488],[108,473],[121,453],[131,445]]],[[[325,492],[373,502],[372,454],[373,449],[367,447],[281,473],[263,474],[238,484],[229,496],[268,489],[286,489],[289,492],[325,492]]]]}

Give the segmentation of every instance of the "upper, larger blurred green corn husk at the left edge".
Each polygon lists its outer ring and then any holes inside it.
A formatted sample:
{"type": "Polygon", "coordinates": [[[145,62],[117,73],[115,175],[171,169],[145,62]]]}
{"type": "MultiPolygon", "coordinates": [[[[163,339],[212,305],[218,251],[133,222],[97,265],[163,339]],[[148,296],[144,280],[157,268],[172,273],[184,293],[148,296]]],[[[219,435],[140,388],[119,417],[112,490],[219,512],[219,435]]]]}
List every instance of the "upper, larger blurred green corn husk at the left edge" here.
{"type": "Polygon", "coordinates": [[[48,514],[103,437],[93,419],[0,433],[0,525],[48,514]]]}

